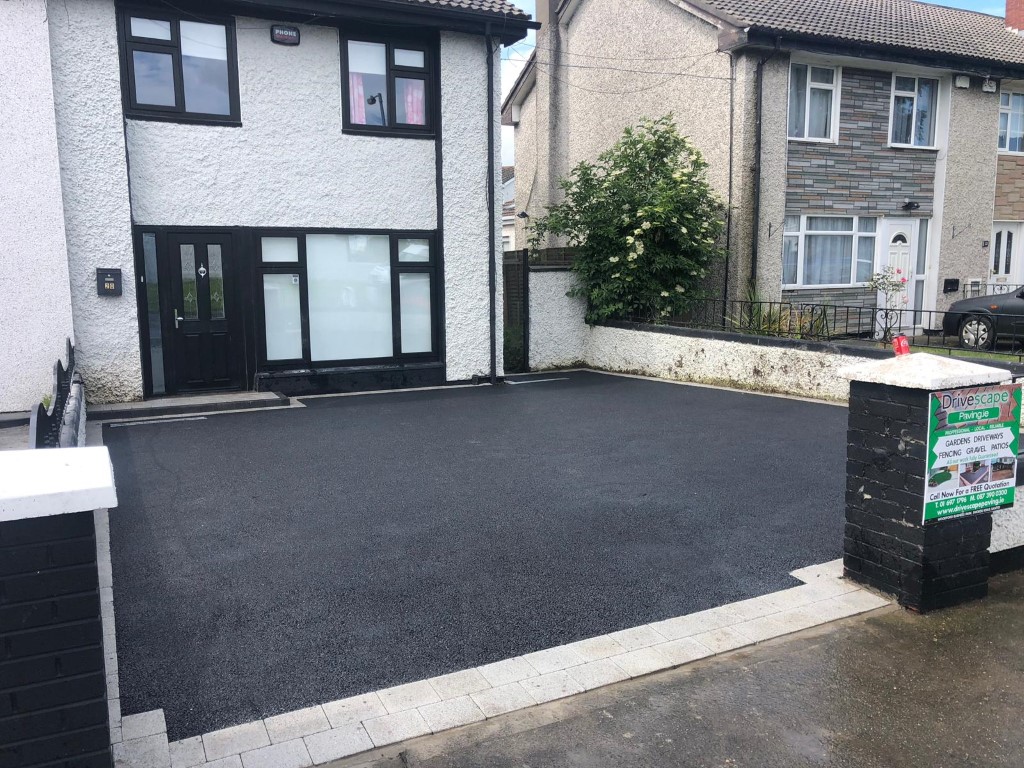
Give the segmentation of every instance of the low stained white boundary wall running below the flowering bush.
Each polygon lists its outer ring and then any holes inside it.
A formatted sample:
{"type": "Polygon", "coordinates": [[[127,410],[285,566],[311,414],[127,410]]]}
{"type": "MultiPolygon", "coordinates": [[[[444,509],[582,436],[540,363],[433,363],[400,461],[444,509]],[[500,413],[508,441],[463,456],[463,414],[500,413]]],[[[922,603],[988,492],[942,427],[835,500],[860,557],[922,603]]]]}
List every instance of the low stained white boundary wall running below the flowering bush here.
{"type": "MultiPolygon", "coordinates": [[[[697,384],[846,402],[843,372],[872,358],[728,341],[708,336],[587,326],[584,304],[565,292],[566,271],[529,273],[531,370],[587,366],[697,384]]],[[[1013,508],[992,514],[991,552],[1024,546],[1024,489],[1013,508]]]]}

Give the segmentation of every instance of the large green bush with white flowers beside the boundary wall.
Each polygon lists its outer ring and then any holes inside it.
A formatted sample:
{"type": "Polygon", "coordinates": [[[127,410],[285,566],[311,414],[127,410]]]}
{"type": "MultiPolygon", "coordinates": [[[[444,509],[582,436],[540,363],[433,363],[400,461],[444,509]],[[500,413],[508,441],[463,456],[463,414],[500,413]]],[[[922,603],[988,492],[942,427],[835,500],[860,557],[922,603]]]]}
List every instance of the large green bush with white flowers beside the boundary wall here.
{"type": "Polygon", "coordinates": [[[559,182],[564,202],[531,226],[537,248],[548,233],[575,247],[572,269],[587,299],[588,323],[664,319],[699,295],[718,241],[724,206],[708,164],[672,116],[641,120],[596,163],[580,163],[559,182]]]}

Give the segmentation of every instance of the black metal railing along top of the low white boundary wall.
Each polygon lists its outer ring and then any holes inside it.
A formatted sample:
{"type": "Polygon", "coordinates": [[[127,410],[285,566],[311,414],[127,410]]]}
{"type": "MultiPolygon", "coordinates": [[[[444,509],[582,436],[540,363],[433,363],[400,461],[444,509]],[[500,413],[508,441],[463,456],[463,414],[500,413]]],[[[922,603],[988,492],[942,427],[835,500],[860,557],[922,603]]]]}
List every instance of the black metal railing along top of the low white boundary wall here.
{"type": "Polygon", "coordinates": [[[697,302],[663,324],[874,347],[902,335],[909,340],[911,351],[1024,360],[1024,314],[713,299],[697,302]]]}

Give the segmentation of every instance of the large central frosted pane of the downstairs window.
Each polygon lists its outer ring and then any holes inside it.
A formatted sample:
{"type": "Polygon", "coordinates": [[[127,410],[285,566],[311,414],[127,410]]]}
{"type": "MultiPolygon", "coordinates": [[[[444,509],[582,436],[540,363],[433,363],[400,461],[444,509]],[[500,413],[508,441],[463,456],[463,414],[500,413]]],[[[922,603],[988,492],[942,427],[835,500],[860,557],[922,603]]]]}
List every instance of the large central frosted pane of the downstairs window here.
{"type": "Polygon", "coordinates": [[[313,360],[393,354],[390,251],[387,236],[306,236],[313,360]]]}

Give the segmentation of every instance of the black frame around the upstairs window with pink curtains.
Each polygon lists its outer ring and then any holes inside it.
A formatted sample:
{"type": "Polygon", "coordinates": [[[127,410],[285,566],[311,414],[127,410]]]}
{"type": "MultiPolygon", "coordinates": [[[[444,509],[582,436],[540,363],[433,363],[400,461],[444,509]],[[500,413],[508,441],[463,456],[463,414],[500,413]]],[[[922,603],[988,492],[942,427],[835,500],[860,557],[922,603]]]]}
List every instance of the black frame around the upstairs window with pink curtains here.
{"type": "Polygon", "coordinates": [[[435,37],[402,37],[381,35],[380,33],[360,34],[357,30],[344,32],[340,35],[341,44],[341,110],[342,132],[354,135],[403,136],[406,138],[433,138],[438,123],[440,101],[440,66],[438,52],[439,38],[435,37]],[[385,46],[387,61],[387,125],[362,125],[353,123],[348,86],[348,44],[379,43],[385,46]],[[423,52],[423,68],[401,67],[394,63],[394,50],[417,50],[423,52]],[[424,82],[424,119],[426,125],[398,123],[396,120],[395,99],[397,89],[395,80],[407,78],[424,82]]]}

